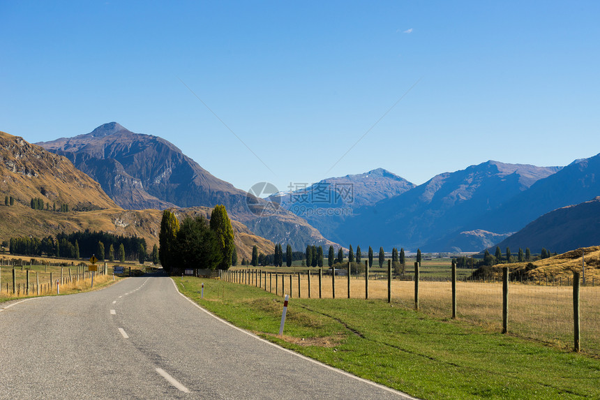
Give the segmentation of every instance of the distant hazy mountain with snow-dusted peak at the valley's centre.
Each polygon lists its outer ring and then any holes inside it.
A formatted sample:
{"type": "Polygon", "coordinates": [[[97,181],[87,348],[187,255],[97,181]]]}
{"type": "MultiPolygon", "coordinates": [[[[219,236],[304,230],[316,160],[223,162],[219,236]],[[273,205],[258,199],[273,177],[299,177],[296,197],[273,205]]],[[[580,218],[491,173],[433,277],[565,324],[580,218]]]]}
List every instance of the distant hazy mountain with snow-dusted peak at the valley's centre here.
{"type": "Polygon", "coordinates": [[[337,228],[354,209],[375,205],[414,186],[403,177],[377,168],[363,174],[323,179],[296,191],[276,193],[269,200],[306,219],[322,235],[338,242],[341,236],[337,228]]]}

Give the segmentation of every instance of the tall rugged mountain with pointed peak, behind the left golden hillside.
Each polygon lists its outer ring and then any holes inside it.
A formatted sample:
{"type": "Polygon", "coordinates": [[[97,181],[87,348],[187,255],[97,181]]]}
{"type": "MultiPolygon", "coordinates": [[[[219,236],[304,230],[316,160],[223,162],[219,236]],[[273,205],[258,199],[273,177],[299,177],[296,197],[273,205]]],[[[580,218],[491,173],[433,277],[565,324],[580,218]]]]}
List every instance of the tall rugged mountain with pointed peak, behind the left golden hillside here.
{"type": "Polygon", "coordinates": [[[91,133],[60,138],[38,145],[65,156],[75,167],[97,179],[121,207],[129,209],[214,207],[225,205],[230,217],[256,235],[273,242],[333,244],[308,222],[285,209],[255,213],[269,202],[235,188],[204,170],[172,143],[153,135],[133,133],[116,122],[98,126],[91,133]]]}

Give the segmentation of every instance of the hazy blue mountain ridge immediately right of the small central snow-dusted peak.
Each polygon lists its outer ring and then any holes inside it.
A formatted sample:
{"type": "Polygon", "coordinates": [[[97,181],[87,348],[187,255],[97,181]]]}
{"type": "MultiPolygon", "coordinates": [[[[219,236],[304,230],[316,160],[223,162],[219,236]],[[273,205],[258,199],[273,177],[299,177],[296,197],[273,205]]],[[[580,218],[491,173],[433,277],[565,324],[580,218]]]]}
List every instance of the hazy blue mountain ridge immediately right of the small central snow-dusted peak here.
{"type": "MultiPolygon", "coordinates": [[[[465,170],[445,172],[393,198],[354,209],[352,216],[340,224],[338,232],[345,244],[451,251],[453,249],[436,242],[457,230],[485,230],[463,228],[560,169],[487,161],[465,170]]],[[[472,235],[474,237],[478,236],[472,235]]],[[[482,248],[479,245],[475,249],[461,250],[479,251],[482,248]]]]}

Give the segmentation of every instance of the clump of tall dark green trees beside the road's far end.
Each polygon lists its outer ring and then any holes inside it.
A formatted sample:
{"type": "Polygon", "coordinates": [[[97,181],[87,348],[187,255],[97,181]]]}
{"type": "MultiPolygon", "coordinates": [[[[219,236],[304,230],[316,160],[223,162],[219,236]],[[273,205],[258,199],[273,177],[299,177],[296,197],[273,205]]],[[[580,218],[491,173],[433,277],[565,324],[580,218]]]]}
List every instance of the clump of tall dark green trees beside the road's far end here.
{"type": "Polygon", "coordinates": [[[173,212],[165,210],[158,241],[160,264],[167,273],[179,269],[228,269],[232,265],[234,232],[223,205],[213,209],[210,221],[204,216],[186,216],[181,225],[173,212]]]}

